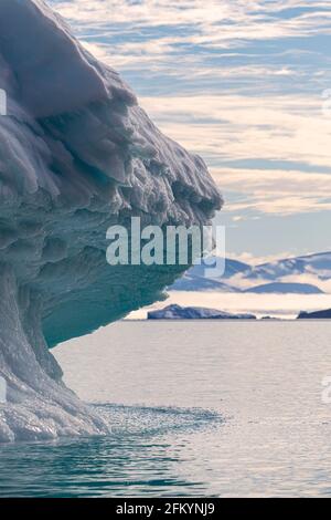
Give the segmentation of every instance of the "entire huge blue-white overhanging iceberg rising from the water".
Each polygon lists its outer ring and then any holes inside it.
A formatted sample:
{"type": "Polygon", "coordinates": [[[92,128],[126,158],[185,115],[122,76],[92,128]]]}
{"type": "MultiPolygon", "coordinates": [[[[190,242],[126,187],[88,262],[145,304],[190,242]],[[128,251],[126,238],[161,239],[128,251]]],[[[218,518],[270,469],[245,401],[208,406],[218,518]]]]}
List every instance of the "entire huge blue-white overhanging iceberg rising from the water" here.
{"type": "Polygon", "coordinates": [[[110,268],[111,223],[205,223],[222,199],[203,160],[164,137],[42,0],[1,1],[0,89],[0,440],[106,433],[47,346],[151,303],[179,274],[110,268]]]}

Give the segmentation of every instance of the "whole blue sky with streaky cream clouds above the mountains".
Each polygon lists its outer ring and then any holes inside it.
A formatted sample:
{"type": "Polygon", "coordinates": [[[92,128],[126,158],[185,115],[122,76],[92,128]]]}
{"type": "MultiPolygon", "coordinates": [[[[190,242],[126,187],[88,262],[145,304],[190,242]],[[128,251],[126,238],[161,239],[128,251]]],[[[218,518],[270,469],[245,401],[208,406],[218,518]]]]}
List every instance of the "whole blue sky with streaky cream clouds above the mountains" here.
{"type": "Polygon", "coordinates": [[[331,0],[49,0],[203,156],[227,254],[331,250],[331,0]]]}

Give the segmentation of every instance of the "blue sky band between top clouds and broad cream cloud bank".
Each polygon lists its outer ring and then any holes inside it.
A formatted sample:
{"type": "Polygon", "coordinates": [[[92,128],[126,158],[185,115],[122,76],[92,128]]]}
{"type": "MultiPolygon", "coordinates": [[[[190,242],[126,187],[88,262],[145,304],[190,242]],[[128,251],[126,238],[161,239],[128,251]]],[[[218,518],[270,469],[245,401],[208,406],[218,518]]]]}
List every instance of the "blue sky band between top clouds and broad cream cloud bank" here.
{"type": "MultiPolygon", "coordinates": [[[[141,42],[145,37],[141,34],[131,41],[141,42]]],[[[114,43],[116,42],[117,39],[114,43]]],[[[260,96],[261,87],[265,94],[312,94],[322,92],[331,83],[330,46],[331,37],[322,35],[309,39],[285,38],[277,42],[246,42],[243,46],[222,51],[204,45],[177,43],[161,62],[158,61],[152,71],[152,84],[149,64],[142,64],[139,73],[136,67],[130,66],[125,66],[121,73],[140,95],[164,95],[171,89],[172,95],[233,91],[241,92],[242,95],[260,96]],[[183,60],[179,69],[177,58],[183,54],[186,63],[183,60]],[[195,63],[192,63],[192,58],[195,63]],[[247,71],[241,71],[238,75],[239,67],[246,67],[247,71]],[[252,74],[249,67],[260,67],[260,75],[252,74]],[[282,69],[288,69],[289,73],[277,75],[282,69]],[[205,71],[207,75],[194,76],[194,70],[205,71]],[[217,72],[226,71],[227,76],[217,75],[217,72]]]]}

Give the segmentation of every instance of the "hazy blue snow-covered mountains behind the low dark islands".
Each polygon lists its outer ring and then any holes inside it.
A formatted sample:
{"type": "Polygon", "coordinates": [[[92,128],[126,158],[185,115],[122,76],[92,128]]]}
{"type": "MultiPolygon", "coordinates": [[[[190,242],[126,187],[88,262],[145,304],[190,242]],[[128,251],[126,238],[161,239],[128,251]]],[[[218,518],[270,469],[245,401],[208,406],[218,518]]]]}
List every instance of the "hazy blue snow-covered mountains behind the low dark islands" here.
{"type": "MultiPolygon", "coordinates": [[[[226,259],[225,272],[206,278],[202,262],[191,268],[170,289],[172,291],[217,291],[279,294],[321,294],[331,281],[331,252],[308,254],[249,266],[226,259]]],[[[331,283],[330,283],[331,290],[331,283]]]]}

